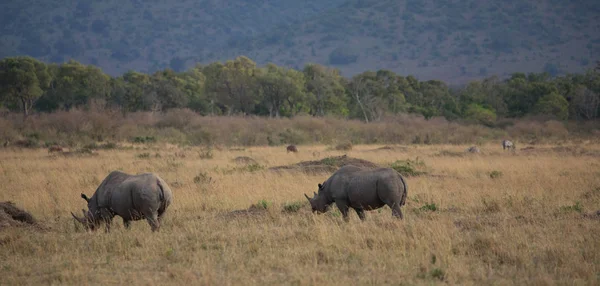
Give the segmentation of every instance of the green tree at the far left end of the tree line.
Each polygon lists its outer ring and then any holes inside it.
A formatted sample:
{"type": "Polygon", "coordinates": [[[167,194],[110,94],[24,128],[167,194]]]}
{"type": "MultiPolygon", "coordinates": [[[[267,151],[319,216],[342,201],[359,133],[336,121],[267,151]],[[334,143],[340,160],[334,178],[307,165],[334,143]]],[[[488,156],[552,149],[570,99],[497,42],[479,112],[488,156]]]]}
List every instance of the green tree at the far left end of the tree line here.
{"type": "Polygon", "coordinates": [[[14,57],[0,61],[0,99],[16,102],[25,117],[49,87],[50,81],[46,64],[36,59],[14,57]]]}

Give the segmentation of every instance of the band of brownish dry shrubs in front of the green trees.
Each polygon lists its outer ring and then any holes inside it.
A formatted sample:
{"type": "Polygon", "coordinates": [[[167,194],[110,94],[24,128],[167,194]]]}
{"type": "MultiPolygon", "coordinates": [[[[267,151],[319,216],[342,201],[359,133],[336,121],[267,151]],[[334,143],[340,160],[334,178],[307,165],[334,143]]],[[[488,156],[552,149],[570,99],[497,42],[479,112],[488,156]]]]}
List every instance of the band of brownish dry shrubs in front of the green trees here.
{"type": "MultiPolygon", "coordinates": [[[[16,113],[0,117],[0,139],[26,138],[36,133],[38,140],[66,145],[93,141],[129,141],[155,136],[159,142],[189,145],[266,146],[280,144],[483,144],[505,137],[517,141],[556,141],[576,136],[596,139],[597,123],[563,124],[532,119],[505,120],[506,129],[448,122],[437,117],[401,114],[381,121],[364,123],[332,117],[297,116],[264,118],[257,116],[201,116],[189,109],[164,113],[133,112],[90,108],[33,114],[23,120],[16,113]]],[[[43,143],[43,142],[42,142],[43,143]]],[[[43,144],[42,144],[43,145],[43,144]]]]}

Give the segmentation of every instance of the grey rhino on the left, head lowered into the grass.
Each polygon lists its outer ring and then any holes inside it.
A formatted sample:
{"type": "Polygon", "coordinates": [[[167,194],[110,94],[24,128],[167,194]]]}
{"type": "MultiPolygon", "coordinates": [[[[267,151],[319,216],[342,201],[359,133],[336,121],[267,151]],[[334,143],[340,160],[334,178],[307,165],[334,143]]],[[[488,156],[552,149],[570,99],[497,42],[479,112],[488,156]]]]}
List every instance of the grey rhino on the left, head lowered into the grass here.
{"type": "Polygon", "coordinates": [[[165,211],[171,205],[171,189],[158,175],[144,173],[130,175],[121,171],[111,172],[96,189],[94,195],[81,197],[88,210],[82,209],[83,217],[71,215],[87,230],[95,230],[101,223],[110,231],[112,219],[118,215],[129,229],[132,220],[146,219],[152,231],[158,231],[165,211]]]}

